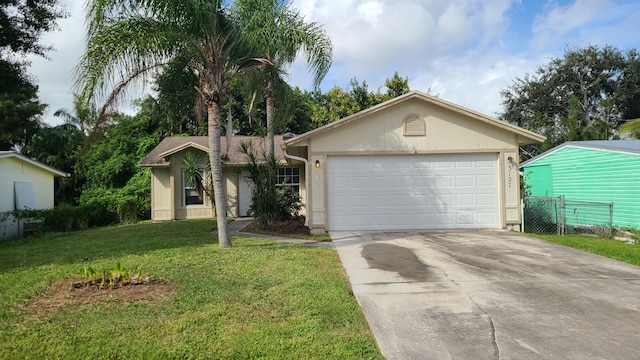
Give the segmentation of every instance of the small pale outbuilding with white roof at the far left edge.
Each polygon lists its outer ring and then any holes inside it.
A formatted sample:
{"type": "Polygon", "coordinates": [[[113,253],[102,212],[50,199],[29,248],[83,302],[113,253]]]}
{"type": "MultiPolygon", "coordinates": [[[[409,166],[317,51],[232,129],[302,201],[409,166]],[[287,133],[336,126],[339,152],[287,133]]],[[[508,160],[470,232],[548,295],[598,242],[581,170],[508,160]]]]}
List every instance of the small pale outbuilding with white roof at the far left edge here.
{"type": "Polygon", "coordinates": [[[51,209],[54,177],[69,174],[14,151],[0,151],[0,239],[21,235],[15,210],[51,209]]]}

